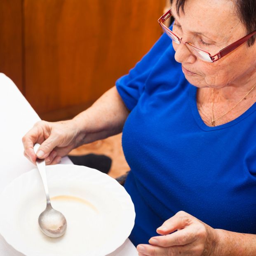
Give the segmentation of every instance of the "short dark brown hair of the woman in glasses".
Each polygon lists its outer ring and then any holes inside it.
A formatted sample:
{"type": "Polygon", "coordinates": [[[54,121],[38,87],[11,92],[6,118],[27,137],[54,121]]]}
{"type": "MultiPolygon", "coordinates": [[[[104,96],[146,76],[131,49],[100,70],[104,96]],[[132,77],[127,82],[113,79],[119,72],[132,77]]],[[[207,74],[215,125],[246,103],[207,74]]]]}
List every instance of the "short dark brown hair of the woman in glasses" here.
{"type": "MultiPolygon", "coordinates": [[[[180,9],[184,13],[185,3],[187,0],[176,0],[176,10],[179,15],[180,9]]],[[[236,5],[237,15],[246,27],[247,34],[256,30],[256,0],[232,0],[236,5]]],[[[171,4],[174,2],[170,0],[171,4]]],[[[247,41],[247,45],[251,46],[255,42],[255,35],[247,41]]]]}

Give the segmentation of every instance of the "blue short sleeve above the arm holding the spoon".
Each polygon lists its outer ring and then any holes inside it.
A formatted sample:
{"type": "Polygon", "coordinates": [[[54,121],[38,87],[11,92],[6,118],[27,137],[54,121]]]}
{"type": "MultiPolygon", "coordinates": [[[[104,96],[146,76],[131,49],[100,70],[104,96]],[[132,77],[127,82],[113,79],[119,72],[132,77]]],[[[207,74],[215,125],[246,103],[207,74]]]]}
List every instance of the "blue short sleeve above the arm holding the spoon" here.
{"type": "Polygon", "coordinates": [[[116,81],[117,91],[129,110],[136,106],[151,70],[170,44],[171,39],[164,33],[150,51],[129,71],[129,74],[116,81]]]}

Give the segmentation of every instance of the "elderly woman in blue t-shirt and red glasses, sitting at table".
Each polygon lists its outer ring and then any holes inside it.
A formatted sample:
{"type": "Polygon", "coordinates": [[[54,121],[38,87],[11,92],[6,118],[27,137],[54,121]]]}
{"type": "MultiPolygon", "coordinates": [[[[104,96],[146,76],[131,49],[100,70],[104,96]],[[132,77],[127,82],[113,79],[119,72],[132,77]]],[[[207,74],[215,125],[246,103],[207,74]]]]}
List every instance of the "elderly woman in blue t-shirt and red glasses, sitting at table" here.
{"type": "Polygon", "coordinates": [[[171,1],[159,22],[129,75],[73,120],[35,124],[25,155],[39,142],[56,164],[123,131],[140,256],[256,255],[256,2],[171,1]]]}

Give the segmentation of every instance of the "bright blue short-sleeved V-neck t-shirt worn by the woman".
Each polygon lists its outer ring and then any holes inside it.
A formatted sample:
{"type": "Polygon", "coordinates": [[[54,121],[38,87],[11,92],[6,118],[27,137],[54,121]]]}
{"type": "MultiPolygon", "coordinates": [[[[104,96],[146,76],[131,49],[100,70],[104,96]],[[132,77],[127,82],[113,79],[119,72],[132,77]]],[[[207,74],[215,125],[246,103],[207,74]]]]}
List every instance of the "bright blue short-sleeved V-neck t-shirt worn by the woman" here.
{"type": "Polygon", "coordinates": [[[226,124],[204,124],[197,87],[165,34],[116,87],[131,110],[122,146],[133,244],[148,243],[181,210],[213,228],[256,234],[256,104],[226,124]]]}

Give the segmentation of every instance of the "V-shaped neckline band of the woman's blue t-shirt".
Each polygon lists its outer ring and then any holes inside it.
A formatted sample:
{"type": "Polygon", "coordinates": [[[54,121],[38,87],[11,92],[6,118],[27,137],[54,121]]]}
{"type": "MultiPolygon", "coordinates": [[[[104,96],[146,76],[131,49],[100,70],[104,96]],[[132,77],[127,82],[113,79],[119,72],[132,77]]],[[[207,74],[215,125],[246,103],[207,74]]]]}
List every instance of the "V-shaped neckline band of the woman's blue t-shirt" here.
{"type": "Polygon", "coordinates": [[[251,115],[255,110],[256,110],[256,103],[254,103],[250,108],[248,108],[242,115],[240,115],[239,117],[237,117],[236,119],[227,122],[225,124],[221,124],[218,126],[208,126],[207,124],[204,123],[204,121],[202,120],[202,117],[200,116],[198,109],[197,109],[197,87],[195,87],[194,85],[190,85],[190,105],[191,105],[191,110],[192,110],[192,114],[193,117],[195,119],[195,121],[197,122],[198,126],[204,130],[204,131],[214,131],[214,130],[219,130],[219,129],[224,129],[226,127],[230,127],[232,125],[237,124],[238,122],[242,121],[244,118],[248,117],[249,115],[251,115]]]}

